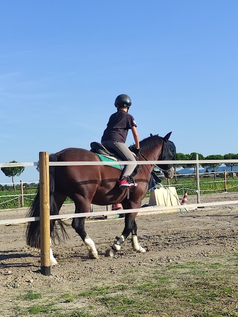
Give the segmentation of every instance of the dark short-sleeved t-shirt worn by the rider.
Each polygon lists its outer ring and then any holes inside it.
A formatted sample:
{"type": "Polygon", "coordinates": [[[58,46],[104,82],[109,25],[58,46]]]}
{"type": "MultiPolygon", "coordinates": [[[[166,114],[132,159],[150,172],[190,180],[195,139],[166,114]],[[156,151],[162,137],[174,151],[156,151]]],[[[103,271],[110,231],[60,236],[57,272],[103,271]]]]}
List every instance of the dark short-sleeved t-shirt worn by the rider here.
{"type": "Polygon", "coordinates": [[[111,140],[125,143],[128,129],[131,127],[136,127],[134,118],[127,112],[119,110],[109,118],[101,142],[111,140]]]}

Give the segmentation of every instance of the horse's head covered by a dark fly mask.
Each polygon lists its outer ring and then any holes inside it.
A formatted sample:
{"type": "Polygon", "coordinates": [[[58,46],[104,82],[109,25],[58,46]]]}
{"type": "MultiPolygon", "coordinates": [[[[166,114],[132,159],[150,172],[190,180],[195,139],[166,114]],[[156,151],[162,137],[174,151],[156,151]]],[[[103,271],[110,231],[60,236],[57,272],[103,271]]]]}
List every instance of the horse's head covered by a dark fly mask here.
{"type": "MultiPolygon", "coordinates": [[[[170,135],[172,132],[169,132],[166,134],[165,137],[163,137],[163,148],[162,148],[162,153],[160,160],[161,161],[171,161],[174,159],[175,154],[176,154],[176,146],[174,142],[169,141],[170,135]]],[[[150,134],[150,136],[153,136],[150,134]]],[[[173,168],[172,164],[163,164],[163,165],[157,165],[159,169],[164,173],[165,177],[167,179],[172,179],[175,174],[175,169],[173,168]]]]}

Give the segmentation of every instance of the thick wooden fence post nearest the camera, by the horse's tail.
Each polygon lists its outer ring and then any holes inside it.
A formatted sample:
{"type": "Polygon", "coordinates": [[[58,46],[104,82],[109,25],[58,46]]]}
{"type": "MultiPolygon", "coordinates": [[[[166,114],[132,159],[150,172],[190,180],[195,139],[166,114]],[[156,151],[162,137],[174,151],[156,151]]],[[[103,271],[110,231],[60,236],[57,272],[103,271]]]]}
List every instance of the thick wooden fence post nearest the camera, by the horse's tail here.
{"type": "Polygon", "coordinates": [[[51,275],[49,153],[40,152],[40,244],[41,273],[51,275]]]}

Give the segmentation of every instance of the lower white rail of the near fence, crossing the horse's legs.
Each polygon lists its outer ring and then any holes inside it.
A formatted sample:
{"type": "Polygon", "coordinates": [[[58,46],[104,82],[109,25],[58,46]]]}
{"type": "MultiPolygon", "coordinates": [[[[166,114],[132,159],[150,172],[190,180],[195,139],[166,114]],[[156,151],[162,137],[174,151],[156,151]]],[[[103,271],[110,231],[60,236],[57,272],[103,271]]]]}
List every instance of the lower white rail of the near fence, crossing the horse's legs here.
{"type": "MultiPolygon", "coordinates": [[[[50,216],[50,219],[65,219],[65,218],[80,218],[80,217],[96,217],[96,216],[107,216],[107,215],[116,215],[121,213],[133,213],[133,212],[147,212],[147,211],[162,211],[162,210],[172,210],[172,209],[186,209],[186,208],[195,208],[195,207],[209,207],[209,206],[218,206],[218,205],[231,205],[237,204],[238,200],[232,201],[217,201],[217,202],[205,202],[205,203],[194,203],[194,204],[185,204],[177,206],[151,206],[143,207],[136,209],[120,209],[115,211],[93,211],[93,212],[82,212],[82,213],[73,213],[73,214],[61,214],[50,216]]],[[[31,217],[31,218],[18,218],[18,219],[5,219],[0,220],[0,225],[12,224],[12,223],[25,223],[32,221],[39,221],[40,217],[31,217]]]]}

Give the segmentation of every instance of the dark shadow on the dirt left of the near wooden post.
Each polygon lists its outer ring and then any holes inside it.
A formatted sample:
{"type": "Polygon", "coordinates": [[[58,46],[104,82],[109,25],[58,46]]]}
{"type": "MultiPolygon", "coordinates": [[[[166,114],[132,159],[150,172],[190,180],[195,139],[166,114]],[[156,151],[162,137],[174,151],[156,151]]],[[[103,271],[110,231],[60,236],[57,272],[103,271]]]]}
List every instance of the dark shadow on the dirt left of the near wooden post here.
{"type": "MultiPolygon", "coordinates": [[[[7,251],[0,251],[0,261],[4,261],[7,259],[17,259],[17,258],[23,258],[23,257],[37,257],[33,254],[26,254],[22,253],[18,250],[7,250],[7,251]]],[[[32,262],[25,262],[25,263],[3,263],[0,262],[0,268],[8,268],[8,267],[29,267],[32,265],[32,262]]]]}

